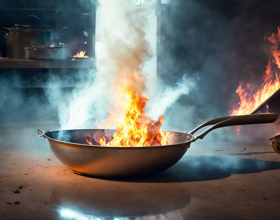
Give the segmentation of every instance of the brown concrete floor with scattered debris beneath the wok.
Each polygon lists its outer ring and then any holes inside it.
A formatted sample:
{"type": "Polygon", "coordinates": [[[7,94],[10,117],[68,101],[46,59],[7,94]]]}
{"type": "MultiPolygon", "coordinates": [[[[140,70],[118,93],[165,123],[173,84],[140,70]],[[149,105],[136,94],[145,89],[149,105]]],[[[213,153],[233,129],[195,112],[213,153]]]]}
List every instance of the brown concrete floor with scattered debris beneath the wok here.
{"type": "Polygon", "coordinates": [[[205,138],[162,173],[101,179],[65,167],[37,128],[58,124],[0,125],[0,219],[280,219],[280,155],[268,140],[205,138]]]}

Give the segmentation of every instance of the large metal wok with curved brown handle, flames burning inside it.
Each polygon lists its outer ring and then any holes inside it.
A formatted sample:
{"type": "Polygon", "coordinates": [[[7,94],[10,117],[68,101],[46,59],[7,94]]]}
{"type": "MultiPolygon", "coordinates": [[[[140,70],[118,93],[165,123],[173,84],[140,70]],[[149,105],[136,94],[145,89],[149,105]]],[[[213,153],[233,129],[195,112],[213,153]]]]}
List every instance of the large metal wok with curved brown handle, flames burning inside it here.
{"type": "Polygon", "coordinates": [[[48,139],[55,156],[75,172],[99,176],[117,177],[161,172],[177,163],[192,142],[202,139],[207,133],[233,125],[272,123],[278,118],[276,113],[228,116],[203,123],[190,132],[166,131],[168,145],[149,147],[102,147],[86,144],[87,137],[107,136],[115,132],[111,129],[77,129],[42,131],[39,137],[48,139]],[[208,125],[201,134],[193,134],[208,125]]]}

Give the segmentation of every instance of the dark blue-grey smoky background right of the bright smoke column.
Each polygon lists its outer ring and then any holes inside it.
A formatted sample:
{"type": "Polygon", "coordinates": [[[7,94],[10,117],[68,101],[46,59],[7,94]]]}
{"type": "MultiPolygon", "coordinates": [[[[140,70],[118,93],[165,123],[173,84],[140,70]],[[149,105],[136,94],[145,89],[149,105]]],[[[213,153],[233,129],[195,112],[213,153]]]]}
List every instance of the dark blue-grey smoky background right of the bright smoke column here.
{"type": "MultiPolygon", "coordinates": [[[[279,1],[177,0],[162,5],[161,12],[161,78],[168,84],[185,73],[200,78],[193,96],[179,100],[186,108],[194,106],[191,124],[227,115],[239,102],[235,90],[241,81],[249,82],[255,91],[259,88],[272,60],[264,36],[277,33],[279,1]]],[[[274,63],[272,68],[279,76],[274,63]]],[[[278,95],[269,103],[270,111],[279,112],[279,100],[278,95]]]]}

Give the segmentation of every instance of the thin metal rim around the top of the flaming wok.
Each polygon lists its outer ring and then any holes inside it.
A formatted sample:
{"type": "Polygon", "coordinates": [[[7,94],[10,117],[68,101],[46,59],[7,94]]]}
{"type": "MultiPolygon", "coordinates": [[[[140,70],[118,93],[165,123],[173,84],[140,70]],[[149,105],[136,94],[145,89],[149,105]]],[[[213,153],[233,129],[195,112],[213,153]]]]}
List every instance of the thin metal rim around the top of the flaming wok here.
{"type": "MultiPolygon", "coordinates": [[[[58,131],[77,131],[77,130],[103,130],[103,129],[68,129],[68,130],[55,130],[55,131],[48,131],[46,133],[44,133],[44,137],[47,138],[50,141],[53,142],[58,142],[58,143],[63,143],[63,144],[67,144],[67,145],[72,145],[72,146],[76,146],[76,147],[83,147],[83,148],[104,148],[104,149],[147,149],[147,148],[168,148],[168,147],[173,147],[173,146],[178,146],[178,145],[182,145],[182,147],[184,146],[188,146],[190,145],[191,141],[193,140],[194,136],[192,134],[189,134],[187,132],[179,132],[179,131],[170,131],[170,130],[163,130],[166,132],[178,132],[178,133],[183,133],[183,134],[187,134],[191,136],[190,140],[187,140],[185,142],[182,143],[176,143],[176,144],[168,144],[168,145],[158,145],[158,146],[143,146],[143,147],[107,147],[107,146],[98,146],[98,145],[88,145],[88,144],[78,144],[78,143],[72,143],[72,142],[66,142],[66,141],[59,141],[53,138],[48,137],[46,134],[50,133],[50,132],[58,132],[58,131]]],[[[114,130],[114,129],[104,129],[104,130],[114,130]]]]}

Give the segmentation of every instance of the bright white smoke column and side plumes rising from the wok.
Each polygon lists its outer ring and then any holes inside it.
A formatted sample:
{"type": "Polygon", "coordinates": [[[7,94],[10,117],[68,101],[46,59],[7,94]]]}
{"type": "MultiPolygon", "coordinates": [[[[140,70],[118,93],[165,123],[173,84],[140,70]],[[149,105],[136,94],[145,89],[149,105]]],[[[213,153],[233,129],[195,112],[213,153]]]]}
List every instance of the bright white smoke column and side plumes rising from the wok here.
{"type": "Polygon", "coordinates": [[[150,63],[145,66],[145,62],[156,57],[155,48],[150,47],[146,38],[149,28],[156,27],[148,23],[150,11],[132,7],[125,0],[100,0],[98,10],[101,17],[97,21],[97,37],[102,42],[97,51],[98,71],[81,70],[78,74],[83,80],[77,82],[72,93],[65,95],[60,88],[63,82],[58,80],[53,80],[46,89],[50,102],[58,108],[60,129],[96,128],[100,124],[116,128],[123,116],[118,85],[134,73],[143,73],[143,68],[146,79],[130,83],[135,83],[150,98],[148,115],[155,120],[180,96],[195,88],[195,79],[187,75],[174,87],[166,87],[149,73],[154,69],[151,70],[150,63]],[[110,122],[105,121],[109,112],[110,122]]]}

